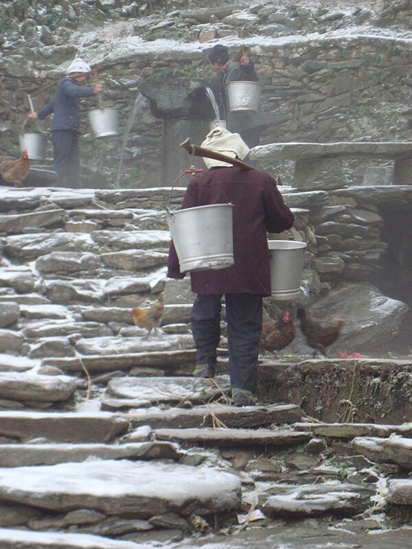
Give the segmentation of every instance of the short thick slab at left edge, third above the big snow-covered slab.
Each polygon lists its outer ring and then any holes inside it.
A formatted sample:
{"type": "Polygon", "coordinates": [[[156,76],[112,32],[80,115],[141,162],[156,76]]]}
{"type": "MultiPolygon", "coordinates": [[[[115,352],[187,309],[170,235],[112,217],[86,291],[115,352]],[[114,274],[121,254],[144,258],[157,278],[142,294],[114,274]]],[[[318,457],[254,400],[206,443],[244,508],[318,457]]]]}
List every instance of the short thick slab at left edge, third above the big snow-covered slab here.
{"type": "Polygon", "coordinates": [[[0,398],[17,401],[59,402],[73,395],[78,380],[68,375],[41,375],[31,372],[0,374],[0,398]]]}

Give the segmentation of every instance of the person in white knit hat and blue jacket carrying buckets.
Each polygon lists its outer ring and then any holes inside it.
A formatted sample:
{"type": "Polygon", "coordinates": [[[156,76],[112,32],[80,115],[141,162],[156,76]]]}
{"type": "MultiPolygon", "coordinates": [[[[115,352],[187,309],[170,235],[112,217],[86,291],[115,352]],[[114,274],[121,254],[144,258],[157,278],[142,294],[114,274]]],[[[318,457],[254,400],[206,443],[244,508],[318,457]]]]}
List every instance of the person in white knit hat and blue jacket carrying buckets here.
{"type": "Polygon", "coordinates": [[[40,119],[51,115],[53,165],[60,187],[78,187],[80,174],[80,152],[78,136],[80,132],[79,100],[90,97],[103,89],[100,82],[94,86],[84,86],[91,69],[82,58],[76,58],[67,69],[67,77],[58,82],[52,102],[29,113],[31,119],[40,119]]]}

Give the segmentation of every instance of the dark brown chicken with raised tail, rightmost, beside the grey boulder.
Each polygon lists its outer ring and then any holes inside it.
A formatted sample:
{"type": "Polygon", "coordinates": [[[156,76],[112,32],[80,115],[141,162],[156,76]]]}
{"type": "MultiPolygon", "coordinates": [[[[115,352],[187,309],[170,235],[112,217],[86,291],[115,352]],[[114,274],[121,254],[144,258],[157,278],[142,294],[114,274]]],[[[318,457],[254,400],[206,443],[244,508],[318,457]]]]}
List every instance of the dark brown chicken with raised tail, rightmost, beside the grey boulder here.
{"type": "Polygon", "coordinates": [[[327,348],[339,338],[343,320],[335,318],[331,325],[323,326],[309,316],[308,311],[304,307],[298,307],[297,318],[300,320],[301,331],[304,333],[306,343],[314,349],[312,357],[316,356],[317,351],[320,351],[323,356],[328,357],[327,348]]]}

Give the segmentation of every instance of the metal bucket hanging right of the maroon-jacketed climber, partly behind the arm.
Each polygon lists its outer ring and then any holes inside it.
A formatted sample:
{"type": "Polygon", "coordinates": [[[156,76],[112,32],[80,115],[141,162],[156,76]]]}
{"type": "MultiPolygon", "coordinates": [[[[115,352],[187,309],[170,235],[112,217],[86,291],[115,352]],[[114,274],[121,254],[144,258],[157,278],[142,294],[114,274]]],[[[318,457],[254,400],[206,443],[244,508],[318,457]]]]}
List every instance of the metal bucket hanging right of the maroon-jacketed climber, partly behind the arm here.
{"type": "Polygon", "coordinates": [[[268,240],[271,253],[271,286],[274,299],[297,299],[300,294],[306,242],[268,240]]]}

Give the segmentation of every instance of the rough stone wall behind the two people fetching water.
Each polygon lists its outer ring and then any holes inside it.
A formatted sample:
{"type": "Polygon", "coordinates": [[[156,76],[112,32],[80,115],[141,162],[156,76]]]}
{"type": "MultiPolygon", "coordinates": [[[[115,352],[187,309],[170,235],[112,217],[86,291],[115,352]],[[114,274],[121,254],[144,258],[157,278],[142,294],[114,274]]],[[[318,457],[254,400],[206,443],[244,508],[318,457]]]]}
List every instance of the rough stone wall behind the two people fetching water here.
{"type": "MultiPolygon", "coordinates": [[[[402,3],[386,2],[382,12],[361,10],[363,15],[353,6],[351,12],[336,14],[332,10],[275,8],[271,3],[255,5],[250,10],[239,10],[244,6],[238,3],[227,8],[231,10],[228,15],[216,7],[190,12],[183,1],[168,5],[169,10],[175,8],[174,12],[158,10],[150,14],[143,10],[143,3],[125,3],[124,12],[112,3],[113,14],[118,18],[112,25],[83,26],[76,34],[70,26],[69,30],[62,30],[50,20],[47,28],[52,34],[52,45],[47,45],[41,31],[30,34],[26,28],[35,21],[29,14],[34,9],[32,3],[30,9],[21,3],[25,8],[20,12],[16,12],[15,1],[6,4],[15,25],[11,25],[7,39],[3,30],[2,38],[5,56],[0,58],[0,92],[4,98],[0,106],[1,150],[19,153],[18,135],[29,107],[27,92],[59,78],[67,62],[79,51],[100,67],[104,106],[119,107],[121,135],[99,140],[91,135],[85,112],[86,104],[95,104],[93,100],[85,102],[84,186],[115,185],[124,130],[139,89],[145,90],[150,105],[146,102],[130,124],[119,185],[154,187],[159,181],[170,184],[182,168],[188,167],[190,163],[179,150],[179,143],[189,135],[193,141],[201,139],[207,131],[207,120],[213,115],[200,90],[212,77],[207,51],[216,39],[229,44],[232,52],[240,45],[250,47],[264,83],[263,104],[269,121],[262,143],[411,141],[410,40],[399,27],[389,30],[394,21],[399,25],[402,19],[402,3]],[[139,10],[146,19],[137,19],[139,10]],[[23,16],[24,23],[15,21],[23,16]],[[247,16],[249,22],[245,23],[247,16]],[[362,22],[380,30],[354,30],[354,25],[362,22]],[[161,100],[170,100],[161,113],[150,87],[165,90],[161,100]],[[176,111],[176,102],[183,108],[176,111]],[[168,170],[161,162],[166,152],[175,159],[168,170]]],[[[107,3],[98,3],[94,12],[90,5],[86,9],[82,3],[80,10],[79,3],[72,4],[76,17],[82,13],[80,24],[85,25],[85,18],[89,17],[94,25],[98,21],[102,25],[108,18],[107,3]]],[[[150,8],[150,3],[146,7],[150,8]]],[[[42,20],[41,30],[47,26],[46,19],[42,20]]],[[[407,25],[407,19],[404,21],[407,25]]],[[[70,25],[74,25],[73,21],[70,25]]],[[[41,101],[52,95],[50,89],[41,101]]]]}

